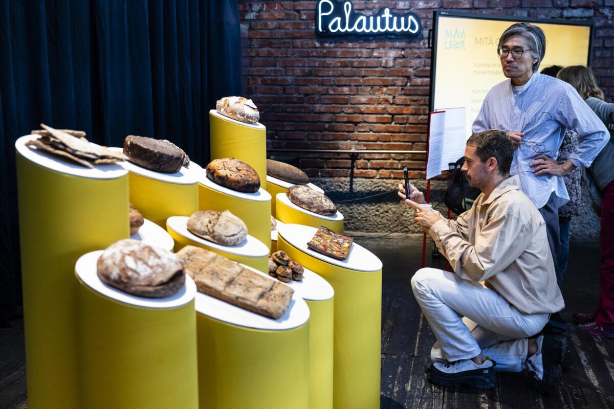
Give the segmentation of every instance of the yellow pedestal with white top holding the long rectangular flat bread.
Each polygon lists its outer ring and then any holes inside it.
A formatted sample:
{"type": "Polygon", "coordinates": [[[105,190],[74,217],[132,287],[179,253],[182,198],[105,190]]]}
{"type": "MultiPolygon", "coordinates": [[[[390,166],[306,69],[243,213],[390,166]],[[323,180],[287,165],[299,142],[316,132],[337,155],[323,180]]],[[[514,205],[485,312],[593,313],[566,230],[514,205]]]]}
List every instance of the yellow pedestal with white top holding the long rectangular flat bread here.
{"type": "Polygon", "coordinates": [[[309,408],[309,308],[270,319],[196,294],[201,409],[309,408]]]}

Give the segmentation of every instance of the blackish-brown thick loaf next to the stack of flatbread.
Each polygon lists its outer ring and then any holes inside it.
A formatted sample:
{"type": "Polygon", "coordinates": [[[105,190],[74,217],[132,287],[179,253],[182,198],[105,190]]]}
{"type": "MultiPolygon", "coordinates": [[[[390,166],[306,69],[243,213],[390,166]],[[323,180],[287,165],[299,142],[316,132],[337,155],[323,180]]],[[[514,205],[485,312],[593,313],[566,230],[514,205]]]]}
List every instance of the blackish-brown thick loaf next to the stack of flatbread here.
{"type": "Polygon", "coordinates": [[[163,174],[179,172],[182,166],[190,163],[185,152],[173,142],[144,136],[126,136],[123,153],[130,162],[163,174]]]}

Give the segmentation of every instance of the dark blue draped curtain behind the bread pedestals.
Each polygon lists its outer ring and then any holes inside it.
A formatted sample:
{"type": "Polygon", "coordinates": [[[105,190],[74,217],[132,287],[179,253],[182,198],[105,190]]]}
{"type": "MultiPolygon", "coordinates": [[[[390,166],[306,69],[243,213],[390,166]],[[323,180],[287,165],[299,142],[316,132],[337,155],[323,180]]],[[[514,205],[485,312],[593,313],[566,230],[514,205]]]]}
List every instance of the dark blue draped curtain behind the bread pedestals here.
{"type": "Polygon", "coordinates": [[[107,146],[149,136],[204,166],[240,58],[236,0],[0,0],[0,313],[21,297],[15,140],[41,122],[107,146]]]}

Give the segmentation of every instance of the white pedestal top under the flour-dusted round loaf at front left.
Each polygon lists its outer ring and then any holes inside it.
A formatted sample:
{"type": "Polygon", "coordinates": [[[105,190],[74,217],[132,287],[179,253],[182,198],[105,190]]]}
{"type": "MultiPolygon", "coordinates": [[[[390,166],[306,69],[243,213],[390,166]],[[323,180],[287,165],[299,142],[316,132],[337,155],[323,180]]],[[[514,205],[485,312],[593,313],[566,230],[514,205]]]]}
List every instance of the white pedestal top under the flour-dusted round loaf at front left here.
{"type": "Polygon", "coordinates": [[[185,285],[173,296],[165,298],[138,297],[113,288],[103,283],[96,273],[96,262],[104,250],[90,251],[81,256],[75,264],[75,274],[77,279],[88,288],[92,289],[101,296],[121,302],[122,304],[133,305],[134,307],[168,309],[177,308],[188,304],[196,296],[196,285],[190,277],[185,277],[185,285]]]}

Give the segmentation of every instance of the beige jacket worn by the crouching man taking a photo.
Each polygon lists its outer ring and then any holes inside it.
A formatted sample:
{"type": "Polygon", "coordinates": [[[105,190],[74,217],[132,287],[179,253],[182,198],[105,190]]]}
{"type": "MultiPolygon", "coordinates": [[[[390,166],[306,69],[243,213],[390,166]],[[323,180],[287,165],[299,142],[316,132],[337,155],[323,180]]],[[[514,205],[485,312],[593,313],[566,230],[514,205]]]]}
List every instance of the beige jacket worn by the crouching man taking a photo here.
{"type": "Polygon", "coordinates": [[[546,224],[509,177],[456,221],[439,220],[429,229],[437,248],[460,277],[485,281],[525,314],[554,313],[565,307],[556,283],[546,224]]]}

